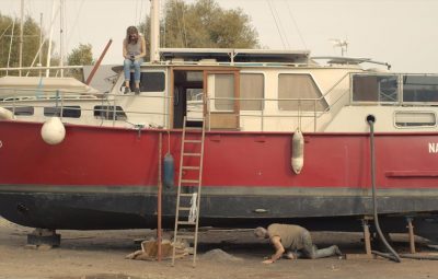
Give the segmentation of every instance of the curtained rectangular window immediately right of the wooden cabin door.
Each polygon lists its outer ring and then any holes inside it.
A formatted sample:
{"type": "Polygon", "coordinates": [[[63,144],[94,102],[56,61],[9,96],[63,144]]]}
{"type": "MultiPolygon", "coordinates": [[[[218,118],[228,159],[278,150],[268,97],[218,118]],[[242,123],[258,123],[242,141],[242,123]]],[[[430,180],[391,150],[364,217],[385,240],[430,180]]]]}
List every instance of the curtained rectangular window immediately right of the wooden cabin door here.
{"type": "Polygon", "coordinates": [[[265,84],[264,84],[264,77],[262,73],[241,73],[240,109],[262,111],[264,93],[265,93],[265,84]]]}

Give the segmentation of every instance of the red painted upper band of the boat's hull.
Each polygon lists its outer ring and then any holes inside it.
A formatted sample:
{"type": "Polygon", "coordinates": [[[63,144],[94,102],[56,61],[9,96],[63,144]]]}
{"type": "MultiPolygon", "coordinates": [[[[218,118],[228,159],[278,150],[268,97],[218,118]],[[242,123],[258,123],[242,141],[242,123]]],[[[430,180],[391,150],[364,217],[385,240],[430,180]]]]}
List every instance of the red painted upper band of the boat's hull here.
{"type": "MultiPolygon", "coordinates": [[[[158,137],[147,130],[67,126],[66,139],[48,146],[42,124],[0,123],[0,185],[157,186],[158,137]]],[[[180,131],[171,132],[178,172],[180,131]]],[[[370,187],[370,147],[366,133],[306,133],[304,166],[290,166],[291,133],[209,132],[204,186],[370,187]]],[[[380,188],[438,188],[438,154],[428,143],[438,133],[376,135],[376,175],[380,188]],[[417,174],[429,175],[396,175],[417,174]],[[395,175],[394,175],[395,174],[395,175]]],[[[193,147],[193,152],[196,150],[193,147]]],[[[196,158],[189,159],[192,163],[196,158]]],[[[188,162],[188,163],[191,163],[188,162]]],[[[175,177],[177,175],[175,174],[175,177]]],[[[186,174],[189,178],[191,174],[186,174]]],[[[176,184],[176,182],[175,182],[176,184]]]]}

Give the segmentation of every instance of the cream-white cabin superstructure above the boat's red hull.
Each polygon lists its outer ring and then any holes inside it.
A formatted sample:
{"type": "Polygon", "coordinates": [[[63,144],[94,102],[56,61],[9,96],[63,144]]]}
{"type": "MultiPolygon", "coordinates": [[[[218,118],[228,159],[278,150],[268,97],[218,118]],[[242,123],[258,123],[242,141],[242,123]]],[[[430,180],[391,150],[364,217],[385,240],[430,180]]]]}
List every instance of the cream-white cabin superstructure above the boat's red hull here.
{"type": "MultiPolygon", "coordinates": [[[[161,49],[141,67],[140,94],[124,94],[119,75],[110,93],[68,78],[0,79],[0,106],[18,120],[125,128],[182,128],[187,116],[210,130],[365,132],[433,131],[438,75],[366,70],[369,59],[319,65],[309,51],[161,49]]],[[[122,67],[116,67],[122,72],[122,67]]],[[[134,85],[134,84],[132,84],[134,85]]]]}

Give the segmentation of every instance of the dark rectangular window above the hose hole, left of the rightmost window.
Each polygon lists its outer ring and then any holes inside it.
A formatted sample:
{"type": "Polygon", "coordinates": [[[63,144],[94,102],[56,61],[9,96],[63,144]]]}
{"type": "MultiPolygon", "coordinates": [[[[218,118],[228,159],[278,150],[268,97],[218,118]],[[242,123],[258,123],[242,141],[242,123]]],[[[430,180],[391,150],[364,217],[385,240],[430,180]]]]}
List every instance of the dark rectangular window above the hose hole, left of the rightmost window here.
{"type": "Polygon", "coordinates": [[[396,75],[353,75],[353,102],[396,103],[396,75]]]}

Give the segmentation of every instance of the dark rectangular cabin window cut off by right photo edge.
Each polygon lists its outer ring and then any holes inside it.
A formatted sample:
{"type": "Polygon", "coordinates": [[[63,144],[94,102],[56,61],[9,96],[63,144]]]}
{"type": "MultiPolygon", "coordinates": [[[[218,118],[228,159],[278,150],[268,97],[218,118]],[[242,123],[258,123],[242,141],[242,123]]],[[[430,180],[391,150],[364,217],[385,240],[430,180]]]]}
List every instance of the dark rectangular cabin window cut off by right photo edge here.
{"type": "Polygon", "coordinates": [[[438,102],[438,77],[405,74],[403,102],[438,102]]]}

